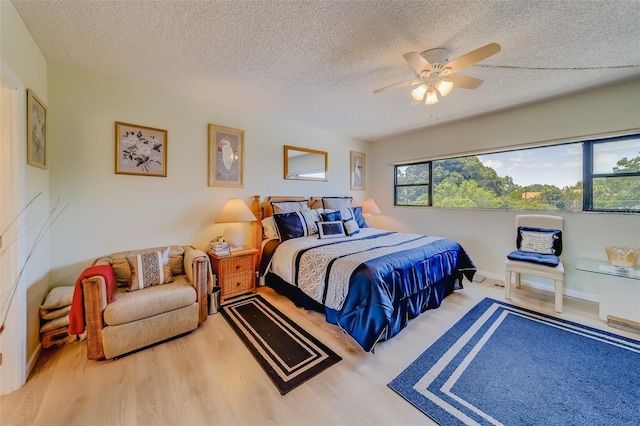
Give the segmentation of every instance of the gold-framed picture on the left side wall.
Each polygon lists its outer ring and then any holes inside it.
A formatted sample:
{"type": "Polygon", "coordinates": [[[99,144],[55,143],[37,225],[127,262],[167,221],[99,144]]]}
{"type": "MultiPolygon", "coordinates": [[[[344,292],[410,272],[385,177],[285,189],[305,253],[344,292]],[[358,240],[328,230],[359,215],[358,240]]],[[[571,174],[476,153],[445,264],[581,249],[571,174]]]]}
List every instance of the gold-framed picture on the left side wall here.
{"type": "Polygon", "coordinates": [[[47,168],[47,107],[27,89],[27,164],[47,168]]]}

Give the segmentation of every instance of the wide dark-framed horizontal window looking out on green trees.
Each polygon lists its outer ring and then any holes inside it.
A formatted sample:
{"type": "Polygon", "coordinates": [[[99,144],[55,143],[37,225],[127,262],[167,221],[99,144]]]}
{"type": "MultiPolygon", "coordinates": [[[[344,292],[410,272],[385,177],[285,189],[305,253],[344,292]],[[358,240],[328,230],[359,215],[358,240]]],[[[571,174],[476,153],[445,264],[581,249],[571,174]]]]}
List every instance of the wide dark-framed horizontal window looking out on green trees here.
{"type": "Polygon", "coordinates": [[[395,166],[395,205],[640,212],[640,135],[395,166]]]}

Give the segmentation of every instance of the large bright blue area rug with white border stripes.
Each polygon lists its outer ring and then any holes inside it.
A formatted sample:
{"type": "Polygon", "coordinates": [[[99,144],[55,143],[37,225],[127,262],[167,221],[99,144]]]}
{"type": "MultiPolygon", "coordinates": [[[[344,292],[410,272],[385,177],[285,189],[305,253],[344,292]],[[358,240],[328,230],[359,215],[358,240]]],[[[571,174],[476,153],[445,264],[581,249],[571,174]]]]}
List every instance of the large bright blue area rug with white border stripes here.
{"type": "Polygon", "coordinates": [[[441,425],[640,425],[640,341],[487,298],[389,387],[441,425]]]}

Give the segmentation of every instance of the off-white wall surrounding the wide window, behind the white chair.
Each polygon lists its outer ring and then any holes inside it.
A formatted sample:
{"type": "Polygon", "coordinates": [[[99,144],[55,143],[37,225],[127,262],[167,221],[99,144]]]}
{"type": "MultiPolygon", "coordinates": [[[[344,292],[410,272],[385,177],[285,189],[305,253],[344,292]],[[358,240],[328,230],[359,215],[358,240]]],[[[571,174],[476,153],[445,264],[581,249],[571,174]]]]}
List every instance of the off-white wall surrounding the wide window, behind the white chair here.
{"type": "MultiPolygon", "coordinates": [[[[376,141],[368,157],[369,167],[380,171],[370,177],[369,195],[383,211],[376,216],[376,226],[458,240],[480,271],[504,279],[504,260],[515,244],[513,224],[519,212],[394,207],[391,163],[633,129],[640,131],[640,80],[376,141]]],[[[576,271],[577,259],[605,260],[607,245],[639,247],[640,215],[560,215],[565,218],[566,293],[597,300],[596,278],[576,271]]]]}

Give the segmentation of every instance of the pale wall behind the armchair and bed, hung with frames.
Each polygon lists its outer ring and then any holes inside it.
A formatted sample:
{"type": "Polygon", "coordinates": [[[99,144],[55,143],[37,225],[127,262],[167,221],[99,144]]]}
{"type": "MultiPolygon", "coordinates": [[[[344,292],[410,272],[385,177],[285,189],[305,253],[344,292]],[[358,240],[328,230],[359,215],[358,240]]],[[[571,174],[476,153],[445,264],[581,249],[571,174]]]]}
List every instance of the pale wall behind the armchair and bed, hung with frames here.
{"type": "Polygon", "coordinates": [[[249,204],[254,194],[350,194],[349,151],[368,150],[367,142],[55,65],[49,100],[51,198],[69,205],[52,231],[54,286],[73,285],[94,258],[114,251],[205,248],[224,229],[215,216],[230,197],[249,204]],[[116,121],[168,131],[166,178],[114,173],[116,121]],[[208,123],[245,131],[244,188],[207,186],[208,123]],[[328,151],[328,182],[285,181],[284,145],[328,151]]]}

